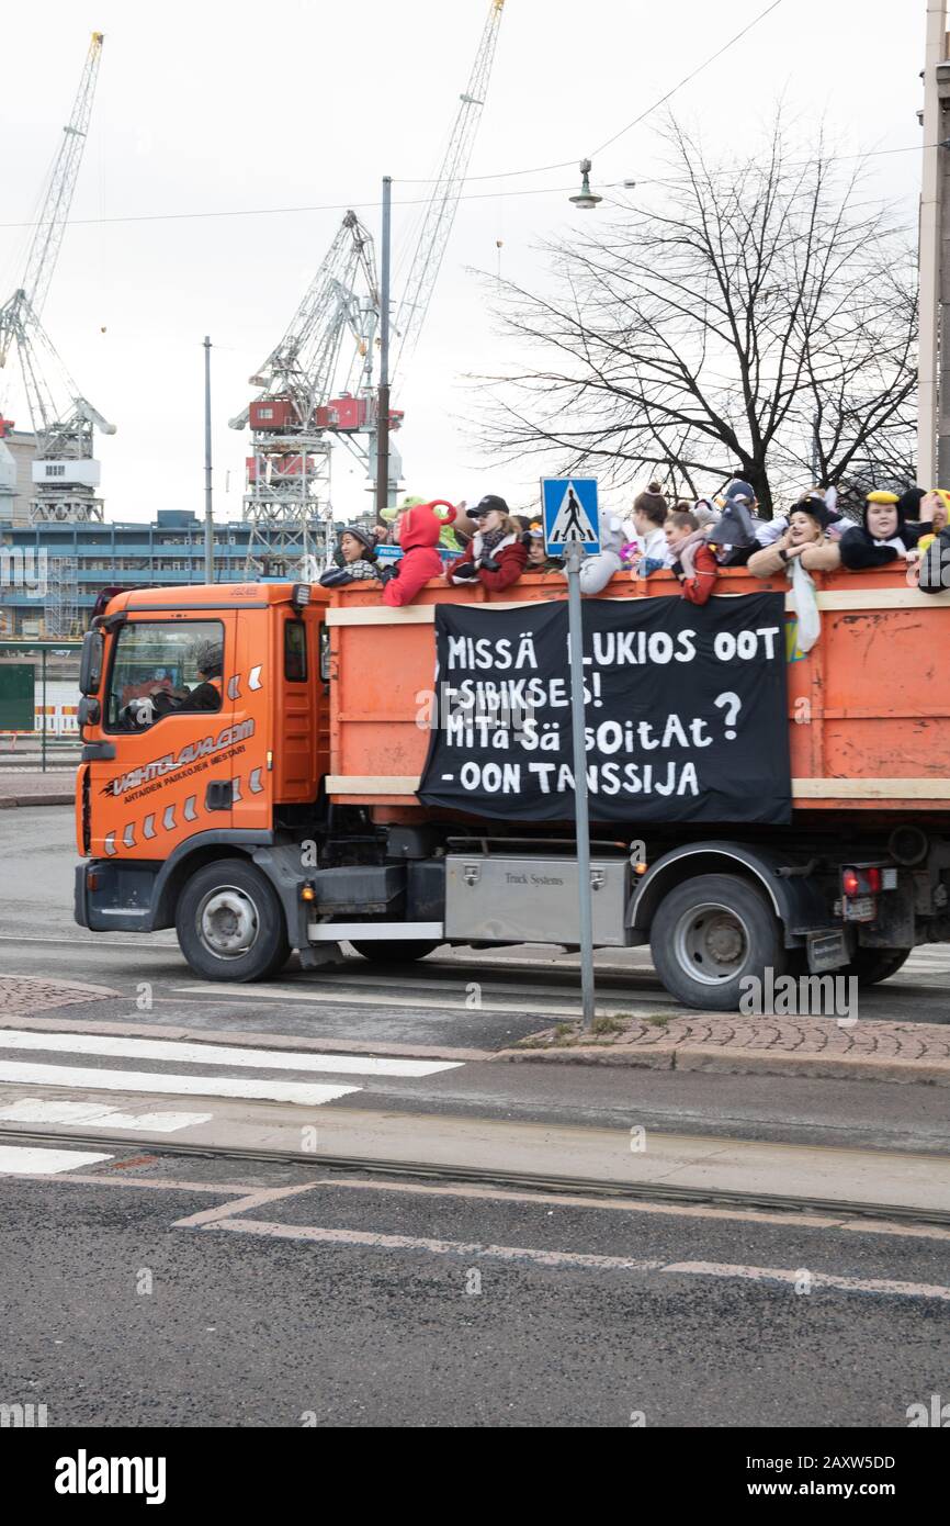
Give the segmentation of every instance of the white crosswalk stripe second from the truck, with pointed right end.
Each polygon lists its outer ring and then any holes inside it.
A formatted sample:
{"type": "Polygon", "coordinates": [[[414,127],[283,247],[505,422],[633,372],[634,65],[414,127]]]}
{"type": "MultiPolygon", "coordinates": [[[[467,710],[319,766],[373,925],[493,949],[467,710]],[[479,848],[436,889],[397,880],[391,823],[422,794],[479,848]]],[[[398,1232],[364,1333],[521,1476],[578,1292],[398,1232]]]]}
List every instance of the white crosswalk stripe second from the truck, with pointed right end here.
{"type": "Polygon", "coordinates": [[[82,1091],[146,1091],[154,1096],[252,1097],[319,1108],[361,1087],[326,1087],[303,1080],[242,1080],[233,1076],[165,1076],[143,1070],[84,1070],[79,1065],[29,1065],[0,1061],[0,1082],[18,1087],[81,1087],[82,1091]]]}

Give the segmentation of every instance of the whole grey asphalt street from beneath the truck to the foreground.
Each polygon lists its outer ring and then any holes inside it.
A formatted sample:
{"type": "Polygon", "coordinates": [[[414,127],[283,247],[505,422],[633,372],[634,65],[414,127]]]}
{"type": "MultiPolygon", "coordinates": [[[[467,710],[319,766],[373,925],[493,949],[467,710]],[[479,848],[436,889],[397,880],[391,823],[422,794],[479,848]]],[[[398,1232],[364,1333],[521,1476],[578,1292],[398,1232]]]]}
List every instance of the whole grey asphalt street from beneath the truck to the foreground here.
{"type": "MultiPolygon", "coordinates": [[[[703,1149],[720,1135],[782,1141],[791,1181],[802,1146],[889,1151],[924,1180],[926,1155],[913,1152],[950,1154],[938,1087],[497,1064],[496,1050],[576,1007],[572,961],[537,948],[445,951],[409,975],[354,957],[270,987],[204,986],[172,934],[75,928],[70,833],[69,810],[0,813],[0,974],[114,992],[59,1009],[58,1027],[73,1022],[82,1038],[90,1019],[108,1019],[130,1039],[175,1027],[252,1050],[249,1036],[267,1035],[319,1039],[334,1054],[467,1058],[346,1074],[329,1056],[314,1074],[300,1053],[300,1068],[276,1073],[259,1045],[250,1062],[207,1051],[197,1067],[183,1039],[168,1054],[117,1059],[37,1053],[35,1032],[8,1033],[2,1065],[82,1065],[82,1091],[44,1090],[66,1112],[88,1114],[98,1097],[127,1114],[210,1116],[213,1087],[210,1102],[162,1093],[201,1071],[250,1088],[232,1094],[229,1117],[256,1109],[267,1137],[270,1105],[239,1099],[267,1094],[279,1074],[278,1085],[357,1088],[300,1109],[317,1126],[363,1116],[418,1128],[419,1140],[445,1120],[474,1123],[485,1140],[526,1123],[540,1138],[615,1131],[627,1151],[636,1125],[686,1137],[697,1158],[700,1137],[703,1149]],[[119,1065],[143,1077],[137,1094],[99,1090],[119,1065]]],[[[599,964],[599,989],[618,1004],[674,1010],[643,951],[599,964]]],[[[930,960],[869,998],[872,1019],[871,1001],[881,1016],[941,1021],[944,978],[930,960]]],[[[5,1083],[0,1102],[34,1090],[5,1083]]],[[[287,1114],[273,1103],[274,1131],[287,1114]]],[[[168,1140],[195,1137],[194,1122],[178,1126],[168,1140]]],[[[950,1395],[945,1228],[343,1177],[319,1161],[171,1154],[148,1129],[142,1144],[93,1148],[79,1143],[81,1123],[59,1128],[40,1141],[63,1148],[55,1161],[20,1144],[24,1154],[3,1155],[0,1140],[0,1404],[44,1402],[50,1425],[887,1428],[907,1425],[910,1404],[950,1395]]]]}

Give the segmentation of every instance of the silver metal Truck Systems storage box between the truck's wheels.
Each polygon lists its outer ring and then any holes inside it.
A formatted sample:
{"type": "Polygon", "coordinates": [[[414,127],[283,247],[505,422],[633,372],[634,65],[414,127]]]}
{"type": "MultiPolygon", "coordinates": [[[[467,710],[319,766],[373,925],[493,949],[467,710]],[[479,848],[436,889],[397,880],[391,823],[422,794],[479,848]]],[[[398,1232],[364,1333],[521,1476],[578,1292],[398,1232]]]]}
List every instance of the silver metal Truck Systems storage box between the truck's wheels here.
{"type": "MultiPolygon", "coordinates": [[[[445,937],[500,943],[579,943],[578,865],[572,858],[450,853],[445,859],[445,937]]],[[[630,864],[590,865],[593,942],[630,942],[630,864]]]]}

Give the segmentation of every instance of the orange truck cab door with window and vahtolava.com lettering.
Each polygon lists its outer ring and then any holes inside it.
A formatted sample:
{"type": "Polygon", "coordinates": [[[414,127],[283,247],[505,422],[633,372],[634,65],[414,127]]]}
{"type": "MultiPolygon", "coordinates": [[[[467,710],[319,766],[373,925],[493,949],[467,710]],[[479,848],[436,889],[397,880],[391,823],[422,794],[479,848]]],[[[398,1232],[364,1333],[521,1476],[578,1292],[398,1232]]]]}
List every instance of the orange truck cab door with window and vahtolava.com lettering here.
{"type": "Polygon", "coordinates": [[[236,617],[133,615],[110,642],[101,739],[87,765],[93,858],[165,859],[200,832],[232,826],[236,617]],[[217,665],[209,674],[200,664],[217,665]]]}

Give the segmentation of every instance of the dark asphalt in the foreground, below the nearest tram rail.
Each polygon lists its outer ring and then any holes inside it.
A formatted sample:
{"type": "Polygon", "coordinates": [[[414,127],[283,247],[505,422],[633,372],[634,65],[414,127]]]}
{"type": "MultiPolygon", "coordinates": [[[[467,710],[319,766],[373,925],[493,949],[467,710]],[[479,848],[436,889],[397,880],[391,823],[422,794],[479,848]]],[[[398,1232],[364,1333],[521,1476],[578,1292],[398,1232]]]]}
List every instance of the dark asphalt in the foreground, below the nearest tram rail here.
{"type": "Polygon", "coordinates": [[[175,1183],[303,1175],[102,1177],[3,1183],[0,1398],[50,1425],[906,1427],[947,1393],[947,1303],[865,1286],[942,1283],[945,1239],[358,1178],[239,1212],[175,1183]]]}

